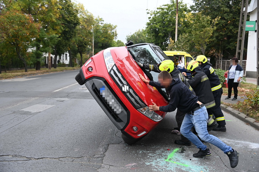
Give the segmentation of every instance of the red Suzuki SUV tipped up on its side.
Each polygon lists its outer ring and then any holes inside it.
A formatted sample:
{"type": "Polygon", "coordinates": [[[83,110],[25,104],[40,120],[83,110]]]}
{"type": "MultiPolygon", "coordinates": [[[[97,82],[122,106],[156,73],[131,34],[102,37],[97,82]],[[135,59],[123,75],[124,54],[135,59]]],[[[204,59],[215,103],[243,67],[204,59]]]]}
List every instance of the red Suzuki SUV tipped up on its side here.
{"type": "MultiPolygon", "coordinates": [[[[127,45],[127,44],[126,44],[127,45]]],[[[149,111],[148,105],[168,104],[165,89],[144,83],[146,79],[157,81],[158,73],[142,70],[142,64],[158,64],[169,60],[155,44],[135,44],[102,50],[89,58],[75,79],[85,84],[113,124],[121,130],[125,143],[133,144],[153,130],[165,116],[165,112],[149,111]]]]}

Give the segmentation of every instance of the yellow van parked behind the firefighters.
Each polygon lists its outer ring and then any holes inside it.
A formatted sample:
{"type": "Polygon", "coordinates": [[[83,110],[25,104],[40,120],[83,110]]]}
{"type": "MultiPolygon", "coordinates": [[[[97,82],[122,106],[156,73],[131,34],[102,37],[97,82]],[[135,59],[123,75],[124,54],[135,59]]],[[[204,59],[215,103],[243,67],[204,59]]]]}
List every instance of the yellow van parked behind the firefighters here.
{"type": "Polygon", "coordinates": [[[184,51],[163,51],[177,66],[179,61],[182,60],[186,66],[186,62],[193,60],[193,57],[184,51]]]}

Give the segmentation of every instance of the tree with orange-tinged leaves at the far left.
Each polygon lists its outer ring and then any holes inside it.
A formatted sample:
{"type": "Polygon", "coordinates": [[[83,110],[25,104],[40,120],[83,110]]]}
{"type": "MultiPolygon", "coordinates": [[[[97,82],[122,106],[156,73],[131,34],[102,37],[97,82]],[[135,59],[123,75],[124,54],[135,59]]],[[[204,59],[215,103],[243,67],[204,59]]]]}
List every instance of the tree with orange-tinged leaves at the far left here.
{"type": "Polygon", "coordinates": [[[10,10],[0,16],[0,30],[2,30],[1,36],[5,42],[15,48],[27,72],[29,60],[27,52],[32,40],[38,37],[39,24],[34,23],[30,15],[10,10]]]}

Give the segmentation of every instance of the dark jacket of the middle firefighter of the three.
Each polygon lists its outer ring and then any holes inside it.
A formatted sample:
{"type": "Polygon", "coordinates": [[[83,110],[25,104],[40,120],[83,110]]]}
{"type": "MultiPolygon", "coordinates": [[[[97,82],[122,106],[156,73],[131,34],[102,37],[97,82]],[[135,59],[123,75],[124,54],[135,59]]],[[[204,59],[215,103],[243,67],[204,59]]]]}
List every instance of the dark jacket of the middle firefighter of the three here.
{"type": "Polygon", "coordinates": [[[198,96],[198,100],[203,103],[207,109],[216,105],[210,88],[209,78],[204,72],[199,71],[195,73],[193,77],[188,77],[188,83],[198,96]]]}

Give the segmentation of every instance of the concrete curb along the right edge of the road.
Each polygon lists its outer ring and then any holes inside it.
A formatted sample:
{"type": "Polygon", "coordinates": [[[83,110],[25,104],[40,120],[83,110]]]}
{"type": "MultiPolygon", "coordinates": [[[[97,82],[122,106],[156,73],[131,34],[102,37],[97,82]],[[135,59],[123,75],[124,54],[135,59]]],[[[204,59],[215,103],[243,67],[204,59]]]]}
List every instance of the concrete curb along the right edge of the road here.
{"type": "Polygon", "coordinates": [[[225,112],[235,116],[239,120],[250,124],[250,126],[254,127],[255,129],[259,130],[259,122],[255,122],[253,118],[248,117],[247,115],[232,109],[231,107],[220,105],[221,110],[224,110],[225,112]]]}

